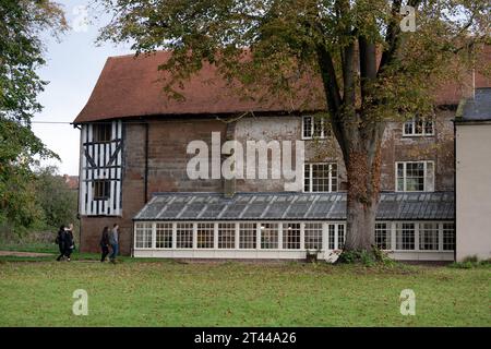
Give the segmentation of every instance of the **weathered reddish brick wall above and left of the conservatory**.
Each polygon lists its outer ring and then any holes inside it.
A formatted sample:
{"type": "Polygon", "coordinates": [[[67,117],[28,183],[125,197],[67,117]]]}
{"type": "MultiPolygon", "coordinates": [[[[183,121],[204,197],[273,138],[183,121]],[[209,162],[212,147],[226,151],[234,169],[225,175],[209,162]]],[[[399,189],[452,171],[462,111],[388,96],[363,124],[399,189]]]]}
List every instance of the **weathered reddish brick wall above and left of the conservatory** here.
{"type": "MultiPolygon", "coordinates": [[[[433,137],[403,137],[402,123],[390,123],[383,142],[382,190],[393,191],[396,160],[434,160],[435,190],[453,190],[453,111],[439,113],[433,137]]],[[[191,141],[201,140],[211,152],[212,132],[220,132],[226,141],[228,124],[214,119],[148,120],[148,179],[149,200],[155,192],[223,192],[221,179],[190,180],[187,164],[193,155],[187,154],[191,141]]],[[[122,217],[82,217],[83,251],[98,251],[104,226],[118,222],[121,227],[121,252],[131,252],[132,218],[145,203],[145,124],[124,122],[122,217]]],[[[229,130],[230,131],[230,130],[229,130]]],[[[248,140],[270,142],[301,139],[301,118],[295,116],[248,117],[235,123],[236,140],[244,146],[248,140]]],[[[294,149],[295,152],[295,149],[294,149]]],[[[246,153],[244,153],[246,155],[246,153]]],[[[306,161],[337,161],[339,190],[346,190],[346,170],[339,146],[333,139],[306,141],[306,161]]],[[[271,161],[270,170],[271,170],[271,161]]],[[[284,191],[284,180],[237,180],[236,191],[284,191]]]]}

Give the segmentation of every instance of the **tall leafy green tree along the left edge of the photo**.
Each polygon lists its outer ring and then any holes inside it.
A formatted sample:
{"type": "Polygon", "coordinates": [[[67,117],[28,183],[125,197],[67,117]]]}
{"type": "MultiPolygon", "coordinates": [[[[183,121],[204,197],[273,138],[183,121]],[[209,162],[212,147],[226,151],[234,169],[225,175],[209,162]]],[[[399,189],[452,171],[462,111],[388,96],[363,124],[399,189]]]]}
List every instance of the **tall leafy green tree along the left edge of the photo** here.
{"type": "Polygon", "coordinates": [[[25,227],[36,218],[32,165],[56,157],[31,129],[46,84],[36,72],[45,63],[41,36],[67,23],[49,0],[2,0],[0,19],[0,222],[25,227]]]}

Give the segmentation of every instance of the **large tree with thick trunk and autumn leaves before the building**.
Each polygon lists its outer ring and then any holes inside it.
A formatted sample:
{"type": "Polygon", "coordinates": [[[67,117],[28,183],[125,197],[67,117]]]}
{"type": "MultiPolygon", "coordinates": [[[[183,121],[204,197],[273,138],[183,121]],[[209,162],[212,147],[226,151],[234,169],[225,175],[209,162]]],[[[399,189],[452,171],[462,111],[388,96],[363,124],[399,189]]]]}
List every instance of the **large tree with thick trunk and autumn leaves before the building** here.
{"type": "Polygon", "coordinates": [[[432,112],[433,87],[457,79],[491,23],[486,0],[99,1],[115,13],[100,39],[133,43],[137,53],[173,51],[161,69],[176,97],[204,62],[255,98],[264,86],[270,96],[297,100],[300,87],[315,96],[310,76],[319,77],[347,168],[345,250],[374,242],[385,122],[432,112]],[[402,29],[411,10],[415,31],[402,29]]]}

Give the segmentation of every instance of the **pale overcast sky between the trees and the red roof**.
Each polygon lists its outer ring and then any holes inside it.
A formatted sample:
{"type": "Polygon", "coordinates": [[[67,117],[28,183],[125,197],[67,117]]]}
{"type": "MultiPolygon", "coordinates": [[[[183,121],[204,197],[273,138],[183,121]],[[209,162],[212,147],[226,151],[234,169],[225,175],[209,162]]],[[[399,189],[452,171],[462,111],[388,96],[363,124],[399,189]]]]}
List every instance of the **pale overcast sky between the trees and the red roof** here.
{"type": "Polygon", "coordinates": [[[86,104],[97,77],[109,56],[130,53],[130,45],[115,46],[107,43],[100,47],[94,44],[98,28],[107,22],[106,19],[95,19],[96,12],[88,11],[93,21],[84,25],[83,11],[80,7],[87,5],[87,0],[58,0],[65,10],[67,20],[72,27],[61,37],[61,43],[47,37],[47,64],[38,74],[49,84],[39,95],[39,101],[45,107],[33,121],[35,134],[60,158],[44,165],[57,165],[60,173],[79,173],[79,141],[80,131],[69,124],[86,104]],[[39,121],[65,122],[61,124],[37,123],[39,121]]]}

